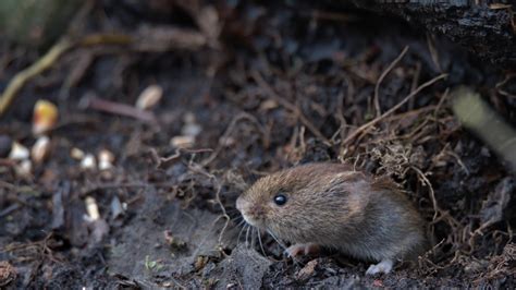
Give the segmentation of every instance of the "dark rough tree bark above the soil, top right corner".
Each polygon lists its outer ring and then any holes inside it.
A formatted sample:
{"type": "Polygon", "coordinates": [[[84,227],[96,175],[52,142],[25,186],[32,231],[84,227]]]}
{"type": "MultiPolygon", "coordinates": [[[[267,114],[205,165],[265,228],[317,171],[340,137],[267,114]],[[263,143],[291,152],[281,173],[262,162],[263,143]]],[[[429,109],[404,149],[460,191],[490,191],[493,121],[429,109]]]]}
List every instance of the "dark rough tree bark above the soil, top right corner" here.
{"type": "Polygon", "coordinates": [[[516,1],[487,0],[328,0],[332,8],[355,8],[394,15],[410,25],[445,35],[480,59],[516,68],[516,1]],[[480,3],[475,3],[480,2],[480,3]]]}

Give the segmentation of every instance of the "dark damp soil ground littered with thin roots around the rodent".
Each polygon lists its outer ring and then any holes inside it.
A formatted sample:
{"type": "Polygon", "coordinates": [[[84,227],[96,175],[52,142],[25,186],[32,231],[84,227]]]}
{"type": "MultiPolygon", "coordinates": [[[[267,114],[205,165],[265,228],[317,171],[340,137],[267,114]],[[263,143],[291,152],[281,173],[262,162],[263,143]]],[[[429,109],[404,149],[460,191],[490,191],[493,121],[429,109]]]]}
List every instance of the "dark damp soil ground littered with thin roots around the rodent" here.
{"type": "MultiPolygon", "coordinates": [[[[170,2],[97,1],[79,35],[136,40],[69,50],[2,117],[2,142],[30,148],[36,100],[60,114],[29,174],[0,144],[0,288],[516,287],[514,173],[460,125],[450,97],[468,85],[516,124],[514,74],[360,11],[170,2]],[[159,105],[121,116],[149,85],[163,89],[159,105]],[[113,166],[85,169],[73,148],[108,149],[113,166]],[[377,277],[335,253],[293,263],[266,234],[260,246],[237,226],[236,197],[310,161],[390,176],[434,246],[377,277]]],[[[3,90],[45,49],[2,43],[3,90]]]]}

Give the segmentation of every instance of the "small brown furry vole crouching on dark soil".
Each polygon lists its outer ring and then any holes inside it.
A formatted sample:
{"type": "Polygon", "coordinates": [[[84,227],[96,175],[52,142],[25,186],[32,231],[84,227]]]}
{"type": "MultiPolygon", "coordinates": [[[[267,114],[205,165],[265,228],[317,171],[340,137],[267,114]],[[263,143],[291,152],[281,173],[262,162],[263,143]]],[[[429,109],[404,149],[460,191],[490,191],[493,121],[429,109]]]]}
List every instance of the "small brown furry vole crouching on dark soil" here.
{"type": "Polygon", "coordinates": [[[291,256],[334,249],[378,263],[368,275],[414,261],[427,245],[423,219],[394,183],[348,165],[308,164],[263,177],[236,208],[249,225],[291,242],[291,256]]]}

